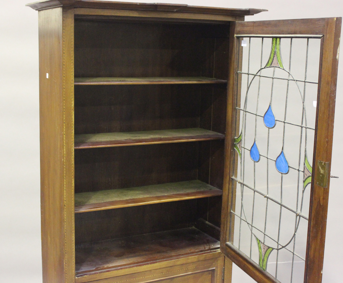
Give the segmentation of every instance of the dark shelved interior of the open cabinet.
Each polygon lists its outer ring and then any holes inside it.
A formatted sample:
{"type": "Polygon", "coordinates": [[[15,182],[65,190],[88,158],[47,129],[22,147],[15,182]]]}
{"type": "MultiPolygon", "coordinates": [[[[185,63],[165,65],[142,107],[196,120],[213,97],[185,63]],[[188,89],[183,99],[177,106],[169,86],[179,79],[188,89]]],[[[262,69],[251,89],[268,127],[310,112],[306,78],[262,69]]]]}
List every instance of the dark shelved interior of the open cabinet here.
{"type": "Polygon", "coordinates": [[[219,248],[228,33],[75,18],[76,276],[219,248]]]}

